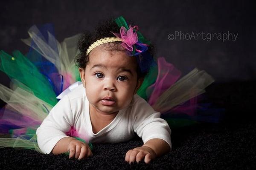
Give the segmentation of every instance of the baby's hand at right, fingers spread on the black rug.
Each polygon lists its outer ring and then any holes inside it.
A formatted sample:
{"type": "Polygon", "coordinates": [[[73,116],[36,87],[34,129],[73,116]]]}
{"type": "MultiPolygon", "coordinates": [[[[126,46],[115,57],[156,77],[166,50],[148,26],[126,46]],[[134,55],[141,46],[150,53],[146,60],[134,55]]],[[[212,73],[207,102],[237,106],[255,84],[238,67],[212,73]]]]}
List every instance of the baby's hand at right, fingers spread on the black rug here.
{"type": "Polygon", "coordinates": [[[148,164],[151,160],[156,158],[156,153],[150,147],[136,147],[126,153],[125,161],[129,162],[129,164],[133,161],[137,161],[139,163],[139,161],[143,160],[144,157],[145,163],[148,164]]]}

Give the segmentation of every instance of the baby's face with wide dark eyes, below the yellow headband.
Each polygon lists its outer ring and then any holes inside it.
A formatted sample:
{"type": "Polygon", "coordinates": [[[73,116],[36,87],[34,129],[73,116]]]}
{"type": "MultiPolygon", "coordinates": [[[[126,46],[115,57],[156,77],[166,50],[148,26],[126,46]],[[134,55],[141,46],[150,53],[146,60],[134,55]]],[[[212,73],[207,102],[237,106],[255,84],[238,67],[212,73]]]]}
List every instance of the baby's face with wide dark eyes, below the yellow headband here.
{"type": "Polygon", "coordinates": [[[125,52],[93,49],[85,71],[79,71],[88,101],[98,112],[111,114],[131,103],[142,83],[136,65],[136,57],[125,52]]]}

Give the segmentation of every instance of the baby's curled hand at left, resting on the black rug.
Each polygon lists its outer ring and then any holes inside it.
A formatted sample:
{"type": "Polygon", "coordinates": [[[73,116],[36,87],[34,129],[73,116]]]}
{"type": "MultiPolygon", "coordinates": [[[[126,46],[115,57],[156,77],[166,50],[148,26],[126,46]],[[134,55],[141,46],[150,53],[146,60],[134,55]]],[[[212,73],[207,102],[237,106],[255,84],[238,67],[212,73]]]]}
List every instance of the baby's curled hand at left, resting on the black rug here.
{"type": "Polygon", "coordinates": [[[79,160],[93,155],[88,144],[76,139],[70,141],[67,145],[67,151],[70,152],[69,158],[75,156],[75,158],[79,160]]]}

